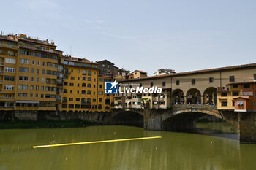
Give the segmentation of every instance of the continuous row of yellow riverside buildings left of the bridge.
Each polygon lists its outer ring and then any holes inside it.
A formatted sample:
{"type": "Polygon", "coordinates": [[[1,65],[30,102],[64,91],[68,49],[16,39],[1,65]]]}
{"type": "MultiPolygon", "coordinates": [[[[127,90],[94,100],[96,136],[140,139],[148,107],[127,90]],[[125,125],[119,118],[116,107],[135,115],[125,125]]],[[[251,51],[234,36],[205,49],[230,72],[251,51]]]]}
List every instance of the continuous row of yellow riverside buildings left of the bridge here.
{"type": "Polygon", "coordinates": [[[64,56],[48,40],[0,36],[0,110],[110,112],[113,95],[98,63],[64,56]]]}

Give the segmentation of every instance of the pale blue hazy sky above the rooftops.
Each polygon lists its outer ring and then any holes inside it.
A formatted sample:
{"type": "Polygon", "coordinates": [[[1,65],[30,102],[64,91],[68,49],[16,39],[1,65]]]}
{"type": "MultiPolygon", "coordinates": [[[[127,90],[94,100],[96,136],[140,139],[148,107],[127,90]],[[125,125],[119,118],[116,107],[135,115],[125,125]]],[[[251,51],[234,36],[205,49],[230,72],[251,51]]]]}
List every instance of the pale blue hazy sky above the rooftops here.
{"type": "Polygon", "coordinates": [[[256,1],[1,1],[0,31],[152,75],[256,63],[256,1]]]}

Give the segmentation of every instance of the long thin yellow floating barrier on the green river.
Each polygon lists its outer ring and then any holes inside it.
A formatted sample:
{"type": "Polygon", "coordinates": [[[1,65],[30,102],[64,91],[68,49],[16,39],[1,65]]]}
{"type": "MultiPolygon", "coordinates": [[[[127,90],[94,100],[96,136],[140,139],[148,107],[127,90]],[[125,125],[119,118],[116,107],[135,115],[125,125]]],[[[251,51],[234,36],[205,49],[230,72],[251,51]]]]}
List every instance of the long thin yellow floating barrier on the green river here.
{"type": "Polygon", "coordinates": [[[77,142],[77,143],[67,143],[67,144],[49,144],[49,145],[42,145],[42,146],[33,146],[33,148],[37,149],[42,147],[63,147],[63,146],[71,146],[71,145],[78,145],[78,144],[99,144],[99,143],[108,143],[108,142],[124,142],[124,141],[159,139],[159,138],[162,138],[162,136],[151,136],[151,137],[130,138],[130,139],[113,139],[113,140],[92,141],[92,142],[77,142]]]}

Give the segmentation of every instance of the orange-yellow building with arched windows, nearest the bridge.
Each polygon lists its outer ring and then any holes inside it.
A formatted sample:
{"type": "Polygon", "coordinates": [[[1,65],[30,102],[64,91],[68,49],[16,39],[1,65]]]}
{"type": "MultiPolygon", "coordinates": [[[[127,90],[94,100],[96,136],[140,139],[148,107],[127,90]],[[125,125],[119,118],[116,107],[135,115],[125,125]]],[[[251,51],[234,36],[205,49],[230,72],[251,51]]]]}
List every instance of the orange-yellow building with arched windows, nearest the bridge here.
{"type": "MultiPolygon", "coordinates": [[[[110,112],[110,96],[105,95],[98,63],[81,58],[64,58],[62,111],[110,112]]],[[[109,77],[108,77],[108,80],[109,77]]],[[[112,95],[113,98],[113,95],[112,95]]]]}

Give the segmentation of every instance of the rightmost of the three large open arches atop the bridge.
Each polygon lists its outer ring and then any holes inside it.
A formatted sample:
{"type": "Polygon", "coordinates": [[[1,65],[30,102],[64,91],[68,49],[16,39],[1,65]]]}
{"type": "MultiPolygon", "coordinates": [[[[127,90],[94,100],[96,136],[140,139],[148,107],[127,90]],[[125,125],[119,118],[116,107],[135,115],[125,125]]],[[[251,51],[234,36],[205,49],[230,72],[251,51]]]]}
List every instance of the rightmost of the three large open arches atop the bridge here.
{"type": "Polygon", "coordinates": [[[206,90],[203,92],[203,104],[217,104],[217,88],[206,88],[206,90]]]}

